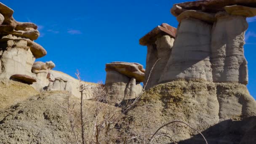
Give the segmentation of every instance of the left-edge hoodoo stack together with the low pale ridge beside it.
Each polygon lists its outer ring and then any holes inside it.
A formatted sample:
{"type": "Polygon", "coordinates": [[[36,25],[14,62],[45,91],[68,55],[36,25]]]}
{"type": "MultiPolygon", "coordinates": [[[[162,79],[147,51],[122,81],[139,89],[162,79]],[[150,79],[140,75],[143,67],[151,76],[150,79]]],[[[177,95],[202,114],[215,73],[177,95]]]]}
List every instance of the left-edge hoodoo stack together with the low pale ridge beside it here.
{"type": "MultiPolygon", "coordinates": [[[[32,85],[37,91],[69,91],[80,97],[80,81],[62,72],[51,70],[52,61],[46,63],[35,59],[47,54],[35,43],[40,36],[37,25],[13,19],[13,10],[0,3],[0,78],[32,85]]],[[[92,98],[92,83],[85,83],[85,99],[92,98]]]]}

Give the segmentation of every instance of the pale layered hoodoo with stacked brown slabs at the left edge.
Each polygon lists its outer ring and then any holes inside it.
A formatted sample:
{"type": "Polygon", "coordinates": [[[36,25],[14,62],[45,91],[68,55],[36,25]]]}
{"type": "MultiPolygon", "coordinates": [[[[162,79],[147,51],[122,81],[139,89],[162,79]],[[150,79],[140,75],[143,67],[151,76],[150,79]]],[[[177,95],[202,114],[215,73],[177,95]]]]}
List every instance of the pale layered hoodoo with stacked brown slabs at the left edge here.
{"type": "Polygon", "coordinates": [[[35,76],[31,72],[35,59],[47,54],[33,41],[39,35],[35,24],[15,21],[13,10],[0,3],[0,78],[35,76]]]}

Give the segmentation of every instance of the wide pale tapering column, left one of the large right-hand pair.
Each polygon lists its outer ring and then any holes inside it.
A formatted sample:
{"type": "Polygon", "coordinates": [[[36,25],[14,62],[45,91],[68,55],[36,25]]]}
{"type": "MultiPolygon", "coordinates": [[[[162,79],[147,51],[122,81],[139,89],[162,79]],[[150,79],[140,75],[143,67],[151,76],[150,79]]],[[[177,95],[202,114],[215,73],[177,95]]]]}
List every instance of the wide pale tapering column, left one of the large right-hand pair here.
{"type": "Polygon", "coordinates": [[[212,25],[196,19],[184,19],[159,83],[184,78],[212,81],[211,56],[212,25]]]}

